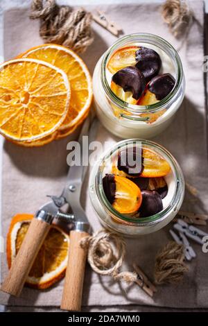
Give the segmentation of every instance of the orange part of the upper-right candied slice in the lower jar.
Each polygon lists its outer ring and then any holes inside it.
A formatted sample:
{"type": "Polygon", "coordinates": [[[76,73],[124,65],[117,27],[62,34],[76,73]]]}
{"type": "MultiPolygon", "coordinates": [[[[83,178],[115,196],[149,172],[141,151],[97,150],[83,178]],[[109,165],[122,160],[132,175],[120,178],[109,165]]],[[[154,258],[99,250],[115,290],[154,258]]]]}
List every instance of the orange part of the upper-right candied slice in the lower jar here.
{"type": "Polygon", "coordinates": [[[155,151],[149,148],[142,148],[142,157],[144,170],[140,174],[144,178],[164,177],[171,171],[171,166],[168,162],[155,151]]]}

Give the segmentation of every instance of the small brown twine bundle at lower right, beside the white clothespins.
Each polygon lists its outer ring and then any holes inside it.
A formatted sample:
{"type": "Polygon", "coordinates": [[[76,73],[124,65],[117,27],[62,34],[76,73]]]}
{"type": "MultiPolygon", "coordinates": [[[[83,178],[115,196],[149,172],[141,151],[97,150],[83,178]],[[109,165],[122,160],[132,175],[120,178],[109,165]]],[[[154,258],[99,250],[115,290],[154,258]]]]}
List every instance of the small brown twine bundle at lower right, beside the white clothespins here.
{"type": "Polygon", "coordinates": [[[188,271],[184,263],[184,246],[170,241],[157,254],[155,261],[155,283],[177,284],[188,271]]]}

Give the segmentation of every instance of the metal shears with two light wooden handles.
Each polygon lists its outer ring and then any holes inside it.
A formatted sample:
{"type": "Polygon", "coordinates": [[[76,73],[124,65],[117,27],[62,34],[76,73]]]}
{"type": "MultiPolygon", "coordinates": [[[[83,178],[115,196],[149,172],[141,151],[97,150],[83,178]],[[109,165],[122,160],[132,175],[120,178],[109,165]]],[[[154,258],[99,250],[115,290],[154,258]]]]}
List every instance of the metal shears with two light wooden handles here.
{"type": "MultiPolygon", "coordinates": [[[[88,131],[89,143],[95,138],[96,123],[97,120],[94,119],[89,130],[90,117],[85,120],[78,139],[80,148],[83,146],[83,136],[87,135],[88,131]]],[[[83,158],[85,159],[85,157],[83,157],[83,151],[80,152],[80,162],[83,162],[83,158]]],[[[19,252],[12,263],[10,271],[1,286],[2,291],[11,295],[20,295],[26,282],[26,277],[37,257],[37,253],[50,230],[53,218],[60,218],[73,225],[73,230],[70,232],[69,259],[61,308],[71,311],[80,310],[87,252],[80,247],[79,243],[80,239],[86,237],[90,232],[87,216],[83,207],[80,205],[80,192],[86,172],[86,166],[71,166],[62,195],[59,197],[50,196],[51,200],[37,211],[31,221],[31,225],[28,228],[19,252]],[[60,210],[66,203],[69,203],[73,214],[65,214],[60,210]]]]}

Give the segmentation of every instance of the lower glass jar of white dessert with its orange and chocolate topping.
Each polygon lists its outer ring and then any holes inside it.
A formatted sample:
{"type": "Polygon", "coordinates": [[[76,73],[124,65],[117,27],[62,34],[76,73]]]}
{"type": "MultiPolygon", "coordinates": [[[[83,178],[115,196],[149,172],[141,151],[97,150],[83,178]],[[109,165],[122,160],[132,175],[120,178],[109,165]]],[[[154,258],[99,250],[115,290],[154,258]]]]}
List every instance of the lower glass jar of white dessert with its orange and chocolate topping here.
{"type": "Polygon", "coordinates": [[[180,166],[165,148],[153,141],[128,139],[115,144],[96,162],[90,175],[89,196],[105,228],[128,237],[137,237],[163,228],[174,218],[184,198],[184,177],[180,166]],[[146,155],[142,152],[144,165],[139,178],[148,180],[145,186],[134,179],[137,173],[128,175],[126,169],[119,165],[118,151],[125,151],[127,146],[146,148],[153,153],[146,155]],[[154,157],[159,160],[154,161],[154,157]],[[154,178],[164,178],[167,186],[164,196],[159,191],[159,183],[156,182],[154,187],[150,185],[150,180],[154,181],[154,178]],[[152,197],[146,198],[147,192],[148,196],[153,196],[153,202],[152,197]],[[159,201],[158,196],[162,198],[159,201]],[[150,200],[146,200],[149,198],[150,200]]]}

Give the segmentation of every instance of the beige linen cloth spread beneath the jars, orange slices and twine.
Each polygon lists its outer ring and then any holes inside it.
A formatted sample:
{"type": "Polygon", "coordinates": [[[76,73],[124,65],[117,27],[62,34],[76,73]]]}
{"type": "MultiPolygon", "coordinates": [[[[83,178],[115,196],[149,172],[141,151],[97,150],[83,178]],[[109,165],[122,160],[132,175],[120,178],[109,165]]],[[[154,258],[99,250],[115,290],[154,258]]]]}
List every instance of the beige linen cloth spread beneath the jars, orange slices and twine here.
{"type": "MultiPolygon", "coordinates": [[[[180,56],[187,80],[186,98],[177,112],[175,121],[154,140],[164,145],[176,157],[187,182],[198,189],[198,200],[186,194],[184,209],[191,212],[208,211],[207,135],[205,111],[205,86],[202,72],[204,55],[203,28],[204,8],[202,1],[191,1],[194,12],[193,25],[185,40],[175,40],[162,22],[159,4],[99,6],[112,20],[123,26],[125,34],[135,32],[156,33],[180,47],[180,56]]],[[[90,7],[89,10],[94,8],[90,7]]],[[[28,19],[28,10],[10,10],[4,19],[5,60],[14,57],[31,46],[41,44],[38,22],[28,19]]],[[[102,53],[116,37],[94,23],[95,41],[83,58],[91,72],[102,53]]],[[[76,135],[73,135],[76,137],[76,135]]],[[[97,140],[117,139],[99,126],[97,140]]],[[[67,141],[53,141],[42,148],[21,148],[6,141],[3,146],[2,218],[3,236],[6,237],[10,219],[19,212],[33,213],[46,200],[46,194],[60,194],[67,173],[67,141]]],[[[83,189],[83,205],[94,230],[101,228],[87,195],[88,176],[83,189]]],[[[130,271],[135,261],[146,274],[153,278],[155,255],[170,236],[171,225],[139,239],[128,239],[127,255],[123,270],[130,271]]],[[[203,230],[208,231],[207,228],[203,230]]],[[[100,277],[87,266],[83,291],[84,306],[139,305],[180,309],[208,307],[208,254],[200,245],[193,243],[197,258],[189,264],[189,273],[179,286],[158,286],[154,298],[149,298],[139,286],[125,286],[110,277],[100,277]]],[[[2,255],[3,279],[7,272],[6,254],[2,255]]],[[[1,304],[10,306],[59,307],[63,280],[46,291],[24,288],[20,298],[1,293],[1,304]]],[[[54,308],[55,309],[55,308],[54,308]]],[[[86,309],[86,308],[85,308],[86,309]]],[[[103,307],[103,310],[105,308],[103,307]]],[[[124,308],[123,308],[124,309],[124,308]]],[[[137,308],[135,308],[137,309],[137,308]]],[[[48,310],[49,311],[49,310],[48,310]]],[[[106,310],[105,310],[106,311],[106,310]]],[[[111,310],[112,311],[112,310],[111,310]]],[[[117,310],[116,310],[117,311],[117,310]]],[[[125,311],[126,308],[125,308],[125,311]]]]}

